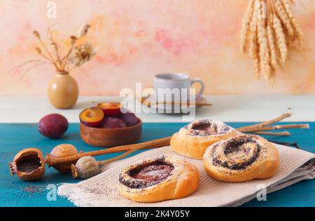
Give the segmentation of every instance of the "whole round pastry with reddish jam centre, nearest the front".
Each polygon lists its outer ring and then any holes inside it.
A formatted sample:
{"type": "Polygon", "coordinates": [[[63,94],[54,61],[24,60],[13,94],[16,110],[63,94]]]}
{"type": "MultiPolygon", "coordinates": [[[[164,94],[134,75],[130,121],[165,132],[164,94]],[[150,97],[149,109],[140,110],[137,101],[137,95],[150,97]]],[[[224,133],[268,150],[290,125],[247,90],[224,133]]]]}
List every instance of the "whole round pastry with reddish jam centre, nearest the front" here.
{"type": "Polygon", "coordinates": [[[133,201],[158,202],[189,196],[198,183],[196,166],[180,156],[162,155],[123,168],[118,190],[133,201]]]}

